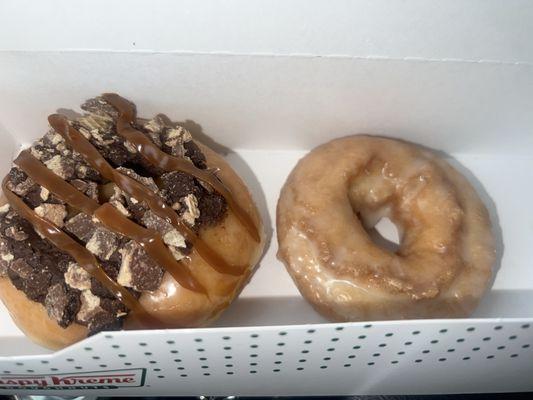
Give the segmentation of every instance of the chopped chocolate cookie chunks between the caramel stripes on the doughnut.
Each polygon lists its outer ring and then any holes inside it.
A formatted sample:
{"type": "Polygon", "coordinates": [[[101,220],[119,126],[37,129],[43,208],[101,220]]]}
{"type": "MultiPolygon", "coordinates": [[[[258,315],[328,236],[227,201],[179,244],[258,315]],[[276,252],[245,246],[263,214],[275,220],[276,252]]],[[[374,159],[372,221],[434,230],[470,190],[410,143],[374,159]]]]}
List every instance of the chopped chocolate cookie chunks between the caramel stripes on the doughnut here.
{"type": "MultiPolygon", "coordinates": [[[[117,134],[118,113],[102,98],[82,105],[85,113],[70,124],[123,175],[159,195],[193,231],[216,225],[227,212],[225,199],[184,172],[165,172],[151,165],[117,134]]],[[[190,133],[166,119],[137,119],[135,128],[161,150],[206,169],[206,159],[190,133]]],[[[108,202],[122,215],[157,231],[170,253],[181,260],[191,245],[144,201],[131,197],[106,180],[83,156],[53,129],[30,148],[31,154],[49,170],[87,197],[108,202]]],[[[39,217],[53,223],[83,245],[106,274],[135,297],[156,290],[164,275],[137,242],[104,227],[98,219],[76,210],[34,182],[22,169],[13,167],[7,188],[19,196],[39,217]]],[[[67,253],[36,232],[9,205],[0,207],[0,278],[11,283],[32,301],[41,303],[50,318],[63,328],[78,323],[90,334],[120,329],[129,310],[67,253]]]]}

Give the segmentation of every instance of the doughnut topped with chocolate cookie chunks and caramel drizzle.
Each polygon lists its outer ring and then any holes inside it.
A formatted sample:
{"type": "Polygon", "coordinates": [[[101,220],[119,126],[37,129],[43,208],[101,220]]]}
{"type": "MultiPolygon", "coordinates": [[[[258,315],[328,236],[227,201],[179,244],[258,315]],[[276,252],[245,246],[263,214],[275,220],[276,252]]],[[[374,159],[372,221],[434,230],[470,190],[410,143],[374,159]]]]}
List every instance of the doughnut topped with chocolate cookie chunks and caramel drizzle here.
{"type": "Polygon", "coordinates": [[[58,349],[110,329],[204,326],[238,295],[264,246],[228,163],[114,94],[23,151],[3,184],[0,298],[58,349]]]}

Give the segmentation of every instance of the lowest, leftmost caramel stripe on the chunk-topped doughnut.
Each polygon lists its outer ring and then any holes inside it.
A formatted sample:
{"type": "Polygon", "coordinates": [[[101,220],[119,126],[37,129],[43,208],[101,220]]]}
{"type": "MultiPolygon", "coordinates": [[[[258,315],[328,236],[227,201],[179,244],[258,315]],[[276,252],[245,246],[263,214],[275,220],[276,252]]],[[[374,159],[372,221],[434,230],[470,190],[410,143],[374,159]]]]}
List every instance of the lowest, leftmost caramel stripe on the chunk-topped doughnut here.
{"type": "Polygon", "coordinates": [[[15,193],[7,187],[8,177],[2,182],[2,189],[11,207],[25,220],[48,239],[57,248],[70,254],[72,258],[89,274],[95,277],[104,287],[121,301],[132,312],[132,317],[137,319],[145,326],[160,327],[164,326],[161,321],[157,320],[141,306],[133,295],[125,288],[113,281],[98,264],[98,261],[92,253],[80,245],[69,235],[59,229],[57,226],[38,216],[30,207],[22,201],[15,193]]]}

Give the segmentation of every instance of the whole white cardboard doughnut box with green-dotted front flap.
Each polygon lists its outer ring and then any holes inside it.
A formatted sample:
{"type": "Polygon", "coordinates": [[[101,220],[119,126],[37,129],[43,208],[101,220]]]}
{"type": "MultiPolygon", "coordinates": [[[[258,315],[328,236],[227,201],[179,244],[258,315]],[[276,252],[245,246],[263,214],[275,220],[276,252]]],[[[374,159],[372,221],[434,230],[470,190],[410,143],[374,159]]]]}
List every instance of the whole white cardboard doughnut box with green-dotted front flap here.
{"type": "MultiPolygon", "coordinates": [[[[102,332],[52,352],[0,305],[0,395],[532,391],[532,19],[519,1],[2,2],[2,175],[57,107],[116,91],[226,154],[269,242],[207,328],[102,332]],[[442,151],[487,205],[497,274],[471,318],[330,323],[276,259],[287,175],[360,132],[442,151]]],[[[387,221],[378,230],[397,240],[387,221]]]]}

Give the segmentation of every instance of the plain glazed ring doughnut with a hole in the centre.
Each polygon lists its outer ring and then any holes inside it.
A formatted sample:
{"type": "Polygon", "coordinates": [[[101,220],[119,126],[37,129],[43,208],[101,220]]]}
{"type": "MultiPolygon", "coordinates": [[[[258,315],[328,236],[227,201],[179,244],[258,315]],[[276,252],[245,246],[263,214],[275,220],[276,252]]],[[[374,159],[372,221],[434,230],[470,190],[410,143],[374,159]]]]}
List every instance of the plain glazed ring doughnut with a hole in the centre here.
{"type": "Polygon", "coordinates": [[[495,260],[489,214],[461,174],[420,146],[365,135],[299,161],[277,235],[300,292],[336,321],[467,316],[495,260]],[[369,236],[384,217],[399,232],[395,252],[369,236]]]}

